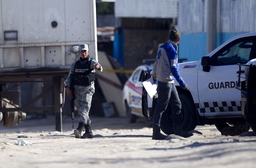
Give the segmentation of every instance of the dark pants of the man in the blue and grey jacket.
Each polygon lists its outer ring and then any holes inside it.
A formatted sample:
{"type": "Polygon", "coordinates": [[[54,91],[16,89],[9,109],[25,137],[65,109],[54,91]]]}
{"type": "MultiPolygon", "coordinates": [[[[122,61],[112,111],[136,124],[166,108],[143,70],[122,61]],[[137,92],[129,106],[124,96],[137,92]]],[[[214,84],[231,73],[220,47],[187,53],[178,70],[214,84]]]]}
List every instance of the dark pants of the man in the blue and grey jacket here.
{"type": "Polygon", "coordinates": [[[169,101],[172,106],[173,125],[179,125],[181,119],[181,102],[174,83],[158,81],[157,93],[158,99],[153,114],[153,126],[160,127],[162,113],[165,112],[169,101]]]}

